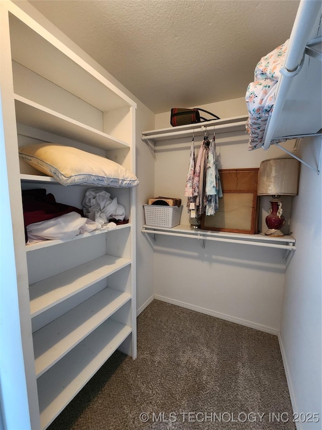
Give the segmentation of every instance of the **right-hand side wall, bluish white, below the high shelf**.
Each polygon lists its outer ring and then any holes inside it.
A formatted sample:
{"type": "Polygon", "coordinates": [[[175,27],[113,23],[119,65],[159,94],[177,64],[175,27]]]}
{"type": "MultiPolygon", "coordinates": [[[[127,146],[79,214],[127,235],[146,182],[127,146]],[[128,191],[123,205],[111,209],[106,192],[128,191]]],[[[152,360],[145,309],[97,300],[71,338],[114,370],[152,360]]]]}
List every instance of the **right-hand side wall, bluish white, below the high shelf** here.
{"type": "MultiPolygon", "coordinates": [[[[320,145],[320,137],[303,139],[303,158],[316,163],[320,145]]],[[[296,252],[286,269],[281,319],[280,340],[294,411],[319,413],[318,423],[298,426],[303,430],[322,428],[321,176],[301,166],[299,195],[292,209],[296,252]]]]}

